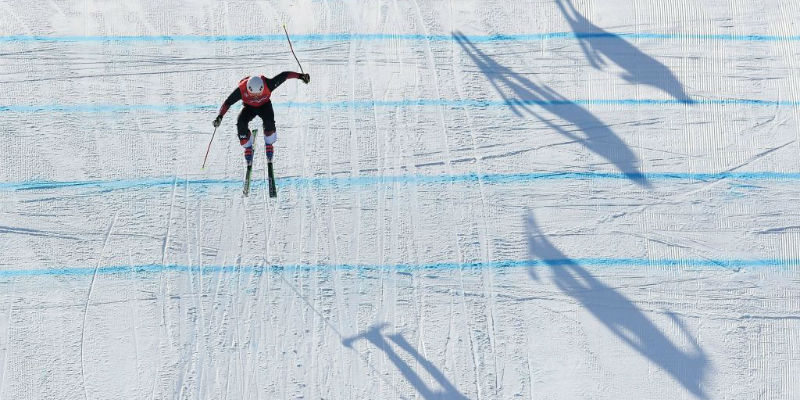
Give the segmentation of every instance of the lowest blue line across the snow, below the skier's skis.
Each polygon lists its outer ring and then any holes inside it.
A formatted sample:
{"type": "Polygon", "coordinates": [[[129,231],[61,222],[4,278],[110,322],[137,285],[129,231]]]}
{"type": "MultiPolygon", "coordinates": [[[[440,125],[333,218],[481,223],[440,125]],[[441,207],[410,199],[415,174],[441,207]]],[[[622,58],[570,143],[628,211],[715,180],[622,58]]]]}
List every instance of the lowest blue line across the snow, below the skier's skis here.
{"type": "Polygon", "coordinates": [[[153,272],[196,273],[260,273],[278,271],[315,270],[360,270],[360,271],[418,271],[447,269],[502,269],[522,267],[558,267],[580,265],[584,267],[667,267],[667,268],[721,268],[740,269],[746,267],[797,267],[800,259],[649,259],[649,258],[574,258],[551,260],[506,260],[469,263],[430,264],[281,264],[281,265],[178,265],[144,264],[116,265],[106,267],[41,268],[0,270],[0,278],[31,276],[87,276],[98,274],[132,274],[153,272]]]}

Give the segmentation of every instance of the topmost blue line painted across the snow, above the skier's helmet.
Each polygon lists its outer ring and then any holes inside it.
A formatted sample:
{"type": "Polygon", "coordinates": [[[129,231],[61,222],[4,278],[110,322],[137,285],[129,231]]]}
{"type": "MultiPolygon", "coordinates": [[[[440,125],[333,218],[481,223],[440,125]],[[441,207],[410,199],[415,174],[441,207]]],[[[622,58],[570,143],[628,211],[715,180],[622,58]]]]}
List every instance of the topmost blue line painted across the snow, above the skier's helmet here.
{"type": "MultiPolygon", "coordinates": [[[[654,39],[654,40],[709,40],[726,42],[780,42],[798,41],[800,35],[728,35],[728,34],[690,34],[690,33],[611,33],[611,32],[545,32],[527,34],[471,35],[462,37],[473,43],[482,42],[537,42],[553,39],[654,39]]],[[[0,36],[0,43],[18,42],[275,42],[285,41],[283,34],[268,35],[131,35],[131,36],[45,36],[8,35],[0,36]]],[[[320,33],[294,34],[292,42],[349,42],[349,41],[428,41],[452,42],[453,35],[420,35],[392,33],[320,33]]]]}

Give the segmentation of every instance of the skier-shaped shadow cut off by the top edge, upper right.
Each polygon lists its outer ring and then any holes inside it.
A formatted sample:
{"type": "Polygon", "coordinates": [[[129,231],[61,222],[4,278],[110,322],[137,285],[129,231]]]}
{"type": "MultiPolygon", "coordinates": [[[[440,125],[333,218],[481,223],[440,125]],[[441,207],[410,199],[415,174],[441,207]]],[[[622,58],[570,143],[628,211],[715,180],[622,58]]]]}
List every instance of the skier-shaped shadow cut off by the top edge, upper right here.
{"type": "Polygon", "coordinates": [[[602,70],[606,59],[625,70],[622,78],[632,84],[644,84],[661,89],[676,100],[691,104],[683,84],[664,64],[643,53],[619,35],[605,31],[589,22],[575,9],[570,0],[555,0],[581,49],[595,69],[602,70]],[[564,3],[567,5],[565,6],[564,3]],[[567,9],[569,8],[569,9],[567,9]]]}

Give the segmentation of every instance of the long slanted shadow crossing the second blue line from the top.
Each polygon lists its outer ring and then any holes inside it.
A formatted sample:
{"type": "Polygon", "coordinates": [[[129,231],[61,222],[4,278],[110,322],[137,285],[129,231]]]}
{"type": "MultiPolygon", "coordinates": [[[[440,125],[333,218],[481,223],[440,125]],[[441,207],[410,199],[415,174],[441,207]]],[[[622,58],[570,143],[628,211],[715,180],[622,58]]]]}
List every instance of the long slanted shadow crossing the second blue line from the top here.
{"type": "Polygon", "coordinates": [[[536,84],[508,67],[498,64],[470,42],[463,33],[454,32],[453,37],[489,79],[514,114],[522,117],[524,112],[538,118],[556,132],[572,141],[581,143],[590,151],[614,164],[628,179],[640,186],[651,187],[650,182],[639,171],[639,159],[607,124],[555,90],[536,84]],[[564,127],[551,122],[539,114],[539,108],[571,126],[564,127]]]}

